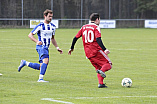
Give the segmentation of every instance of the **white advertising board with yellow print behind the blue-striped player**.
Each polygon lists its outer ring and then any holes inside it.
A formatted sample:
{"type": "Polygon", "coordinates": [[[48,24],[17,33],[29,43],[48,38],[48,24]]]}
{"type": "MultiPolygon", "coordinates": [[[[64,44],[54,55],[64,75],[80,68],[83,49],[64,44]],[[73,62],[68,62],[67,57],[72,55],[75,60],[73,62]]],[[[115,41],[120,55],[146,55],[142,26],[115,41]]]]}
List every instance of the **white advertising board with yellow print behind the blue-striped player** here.
{"type": "MultiPolygon", "coordinates": [[[[30,20],[30,28],[34,28],[40,22],[44,22],[44,20],[30,20]]],[[[58,20],[52,20],[51,22],[56,26],[56,28],[59,28],[58,20]]]]}

